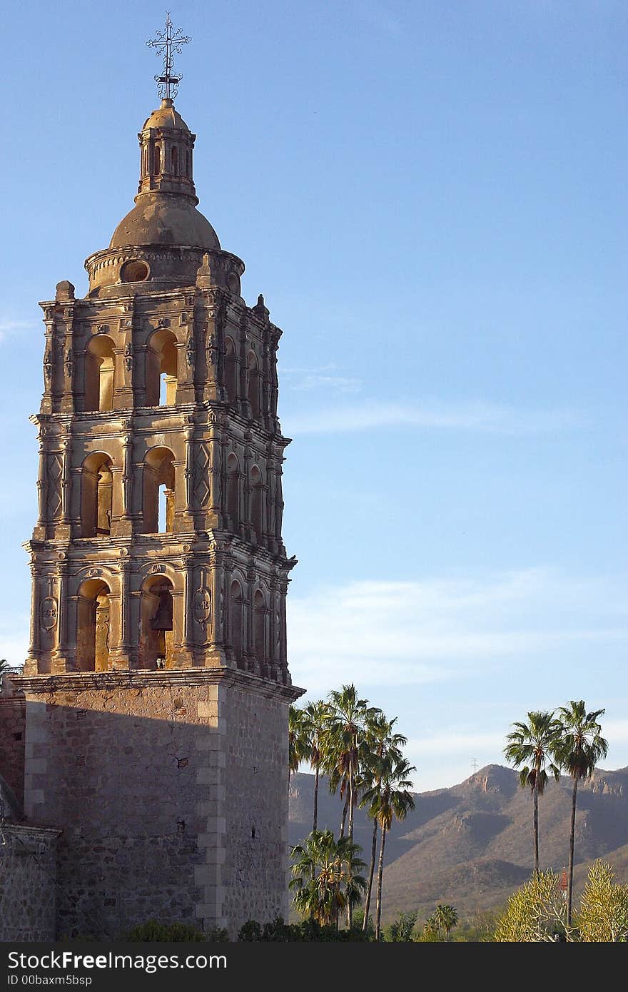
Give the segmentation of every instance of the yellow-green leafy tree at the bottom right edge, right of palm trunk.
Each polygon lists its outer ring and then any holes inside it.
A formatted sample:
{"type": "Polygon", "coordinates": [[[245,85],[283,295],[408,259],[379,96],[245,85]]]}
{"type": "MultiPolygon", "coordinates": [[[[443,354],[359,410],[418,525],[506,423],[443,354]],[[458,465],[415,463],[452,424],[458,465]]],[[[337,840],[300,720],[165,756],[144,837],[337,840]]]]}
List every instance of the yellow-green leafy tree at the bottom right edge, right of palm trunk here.
{"type": "Polygon", "coordinates": [[[590,866],[575,922],[585,943],[628,941],[628,885],[615,883],[609,864],[595,861],[590,866]]]}

